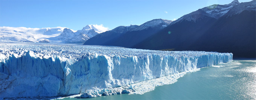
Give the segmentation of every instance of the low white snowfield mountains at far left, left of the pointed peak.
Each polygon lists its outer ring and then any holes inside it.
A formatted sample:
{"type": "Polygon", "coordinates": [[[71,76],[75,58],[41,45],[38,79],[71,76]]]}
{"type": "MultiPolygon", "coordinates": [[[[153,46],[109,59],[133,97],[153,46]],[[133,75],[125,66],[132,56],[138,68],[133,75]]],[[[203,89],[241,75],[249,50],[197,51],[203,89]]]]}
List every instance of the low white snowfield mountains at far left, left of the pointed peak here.
{"type": "Polygon", "coordinates": [[[65,28],[0,27],[0,41],[47,42],[46,38],[58,36],[65,28]]]}

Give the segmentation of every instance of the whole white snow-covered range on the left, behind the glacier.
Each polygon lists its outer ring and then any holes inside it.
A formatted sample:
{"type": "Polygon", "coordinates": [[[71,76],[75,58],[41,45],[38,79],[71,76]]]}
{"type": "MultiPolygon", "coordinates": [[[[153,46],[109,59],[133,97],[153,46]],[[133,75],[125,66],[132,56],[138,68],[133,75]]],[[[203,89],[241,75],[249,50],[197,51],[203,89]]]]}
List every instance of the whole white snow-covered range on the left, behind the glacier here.
{"type": "Polygon", "coordinates": [[[0,41],[84,43],[89,38],[105,31],[108,31],[108,28],[103,27],[103,25],[86,25],[82,30],[78,31],[74,31],[66,27],[0,27],[0,41]]]}

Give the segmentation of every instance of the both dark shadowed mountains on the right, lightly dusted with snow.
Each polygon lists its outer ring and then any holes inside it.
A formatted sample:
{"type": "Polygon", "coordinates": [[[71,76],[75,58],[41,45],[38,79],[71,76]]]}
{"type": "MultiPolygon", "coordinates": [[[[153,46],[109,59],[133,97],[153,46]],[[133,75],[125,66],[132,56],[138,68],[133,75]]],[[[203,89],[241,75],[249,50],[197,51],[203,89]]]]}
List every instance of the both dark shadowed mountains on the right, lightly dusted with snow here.
{"type": "Polygon", "coordinates": [[[235,58],[256,58],[256,0],[198,9],[176,21],[154,19],[140,26],[120,26],[88,39],[84,45],[175,51],[232,52],[235,58]],[[141,30],[139,27],[149,26],[141,30]],[[161,27],[165,26],[167,27],[161,27]],[[129,29],[128,29],[129,28],[129,29]]]}

